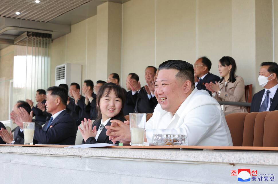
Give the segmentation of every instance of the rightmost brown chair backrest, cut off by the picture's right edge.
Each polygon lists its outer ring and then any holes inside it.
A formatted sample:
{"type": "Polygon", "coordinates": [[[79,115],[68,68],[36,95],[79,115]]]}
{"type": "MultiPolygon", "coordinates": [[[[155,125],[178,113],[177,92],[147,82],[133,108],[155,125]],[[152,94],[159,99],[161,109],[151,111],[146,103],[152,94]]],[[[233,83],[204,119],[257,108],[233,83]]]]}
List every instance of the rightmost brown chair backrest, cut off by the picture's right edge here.
{"type": "Polygon", "coordinates": [[[263,146],[278,147],[278,110],[265,116],[263,129],[263,146]]]}

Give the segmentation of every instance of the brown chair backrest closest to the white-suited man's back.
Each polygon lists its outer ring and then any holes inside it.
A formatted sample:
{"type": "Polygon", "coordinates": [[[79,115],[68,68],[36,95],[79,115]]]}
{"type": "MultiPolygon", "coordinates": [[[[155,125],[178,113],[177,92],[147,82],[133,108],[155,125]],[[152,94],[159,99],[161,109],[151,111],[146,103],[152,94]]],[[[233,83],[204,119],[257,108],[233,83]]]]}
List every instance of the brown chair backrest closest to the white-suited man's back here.
{"type": "Polygon", "coordinates": [[[242,146],[244,120],[248,113],[232,113],[226,115],[234,146],[242,146]]]}

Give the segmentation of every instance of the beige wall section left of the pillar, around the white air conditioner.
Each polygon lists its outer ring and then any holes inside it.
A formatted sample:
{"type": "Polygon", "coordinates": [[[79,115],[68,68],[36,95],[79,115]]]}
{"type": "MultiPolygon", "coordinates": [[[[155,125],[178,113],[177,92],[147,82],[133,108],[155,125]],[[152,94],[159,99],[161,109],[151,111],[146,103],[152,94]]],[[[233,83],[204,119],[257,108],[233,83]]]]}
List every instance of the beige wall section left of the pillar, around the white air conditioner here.
{"type": "Polygon", "coordinates": [[[97,16],[71,26],[71,33],[52,42],[51,85],[55,85],[55,67],[64,63],[82,65],[82,81],[96,78],[97,16]]]}

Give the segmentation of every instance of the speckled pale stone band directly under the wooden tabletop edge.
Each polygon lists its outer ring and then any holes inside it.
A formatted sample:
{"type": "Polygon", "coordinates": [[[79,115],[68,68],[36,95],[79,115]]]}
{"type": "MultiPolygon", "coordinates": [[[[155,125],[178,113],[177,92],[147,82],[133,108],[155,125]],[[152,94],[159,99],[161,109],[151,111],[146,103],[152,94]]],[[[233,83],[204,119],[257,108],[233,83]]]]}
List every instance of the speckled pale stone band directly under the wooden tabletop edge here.
{"type": "Polygon", "coordinates": [[[220,151],[185,149],[0,147],[0,153],[67,155],[83,157],[146,159],[179,162],[214,162],[254,165],[278,165],[278,151],[220,151]]]}

